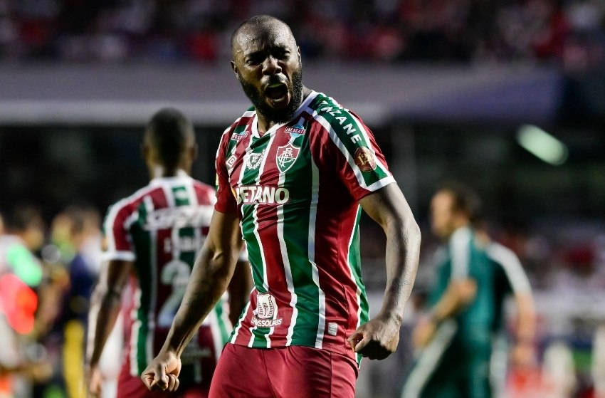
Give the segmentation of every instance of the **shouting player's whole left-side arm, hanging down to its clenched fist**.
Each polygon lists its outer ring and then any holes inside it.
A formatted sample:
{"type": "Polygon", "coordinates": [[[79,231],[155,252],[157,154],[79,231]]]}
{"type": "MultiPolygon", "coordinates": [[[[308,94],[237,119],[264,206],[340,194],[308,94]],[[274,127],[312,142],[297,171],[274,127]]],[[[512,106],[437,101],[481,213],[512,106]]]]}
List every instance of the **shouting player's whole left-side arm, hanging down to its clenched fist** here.
{"type": "Polygon", "coordinates": [[[214,211],[208,237],[196,258],[177,315],[162,350],[142,373],[149,389],[179,386],[179,357],[214,304],[225,292],[242,247],[236,213],[214,211]]]}

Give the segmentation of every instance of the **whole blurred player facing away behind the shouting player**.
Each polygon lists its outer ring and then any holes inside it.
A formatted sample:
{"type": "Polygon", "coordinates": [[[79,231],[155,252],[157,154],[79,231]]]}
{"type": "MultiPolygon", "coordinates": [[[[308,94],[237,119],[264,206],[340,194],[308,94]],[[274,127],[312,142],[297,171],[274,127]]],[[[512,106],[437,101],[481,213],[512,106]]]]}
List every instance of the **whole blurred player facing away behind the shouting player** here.
{"type": "MultiPolygon", "coordinates": [[[[125,297],[125,346],[118,397],[158,397],[140,379],[159,352],[177,312],[216,202],[214,188],[189,177],[196,156],[191,122],[179,111],[157,112],[144,135],[149,184],[110,207],[104,223],[102,276],[90,312],[89,390],[100,394],[98,361],[125,297]]],[[[237,266],[246,272],[247,267],[237,266]]],[[[245,283],[245,274],[233,285],[245,283]]],[[[248,291],[232,289],[236,317],[248,291]]],[[[247,289],[246,289],[247,290],[247,289]]],[[[231,332],[225,296],[183,353],[182,397],[206,397],[223,345],[231,332]],[[189,388],[188,388],[189,387],[189,388]]],[[[174,395],[171,395],[174,397],[174,395]]]]}

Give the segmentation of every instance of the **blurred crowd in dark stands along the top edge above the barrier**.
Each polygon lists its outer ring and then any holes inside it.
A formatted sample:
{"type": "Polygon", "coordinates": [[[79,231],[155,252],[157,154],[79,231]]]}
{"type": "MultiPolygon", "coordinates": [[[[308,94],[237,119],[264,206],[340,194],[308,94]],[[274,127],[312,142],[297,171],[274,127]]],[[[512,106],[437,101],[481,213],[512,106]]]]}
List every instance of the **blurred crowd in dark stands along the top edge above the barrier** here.
{"type": "Polygon", "coordinates": [[[601,0],[0,0],[0,59],[201,62],[254,14],[292,26],[307,60],[602,65],[601,0]]]}

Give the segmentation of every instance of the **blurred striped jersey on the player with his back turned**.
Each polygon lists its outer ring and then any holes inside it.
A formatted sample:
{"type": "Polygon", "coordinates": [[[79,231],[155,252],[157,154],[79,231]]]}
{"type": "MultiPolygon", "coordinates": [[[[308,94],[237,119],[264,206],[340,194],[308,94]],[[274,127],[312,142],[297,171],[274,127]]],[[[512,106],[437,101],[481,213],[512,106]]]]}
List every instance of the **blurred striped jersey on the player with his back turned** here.
{"type": "MultiPolygon", "coordinates": [[[[124,305],[127,363],[133,376],[140,375],[166,339],[215,202],[214,188],[181,172],[152,179],[107,212],[104,259],[135,265],[124,305]]],[[[184,365],[189,360],[198,368],[214,368],[231,331],[227,315],[223,298],[183,353],[184,365]]],[[[200,372],[192,372],[199,377],[200,372]]]]}

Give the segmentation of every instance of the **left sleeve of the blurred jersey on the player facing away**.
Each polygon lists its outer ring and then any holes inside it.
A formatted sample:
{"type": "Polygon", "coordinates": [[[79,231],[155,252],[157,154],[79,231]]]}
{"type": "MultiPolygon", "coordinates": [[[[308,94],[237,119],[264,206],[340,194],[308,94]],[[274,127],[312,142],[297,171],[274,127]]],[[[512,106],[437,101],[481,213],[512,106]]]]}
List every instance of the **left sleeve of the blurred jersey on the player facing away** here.
{"type": "Polygon", "coordinates": [[[132,219],[131,205],[127,200],[110,207],[103,222],[103,260],[135,261],[135,248],[128,230],[132,219]]]}

